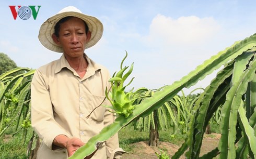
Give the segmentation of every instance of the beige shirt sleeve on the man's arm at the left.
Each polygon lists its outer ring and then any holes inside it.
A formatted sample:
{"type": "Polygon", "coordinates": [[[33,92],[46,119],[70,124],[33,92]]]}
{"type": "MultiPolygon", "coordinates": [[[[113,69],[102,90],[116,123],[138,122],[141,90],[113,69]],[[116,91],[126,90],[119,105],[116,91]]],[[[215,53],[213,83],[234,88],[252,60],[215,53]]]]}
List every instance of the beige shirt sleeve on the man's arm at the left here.
{"type": "Polygon", "coordinates": [[[51,150],[53,140],[58,135],[66,135],[67,132],[56,123],[53,116],[53,107],[47,79],[37,70],[31,83],[31,125],[51,150]]]}

